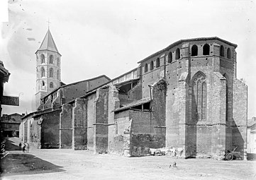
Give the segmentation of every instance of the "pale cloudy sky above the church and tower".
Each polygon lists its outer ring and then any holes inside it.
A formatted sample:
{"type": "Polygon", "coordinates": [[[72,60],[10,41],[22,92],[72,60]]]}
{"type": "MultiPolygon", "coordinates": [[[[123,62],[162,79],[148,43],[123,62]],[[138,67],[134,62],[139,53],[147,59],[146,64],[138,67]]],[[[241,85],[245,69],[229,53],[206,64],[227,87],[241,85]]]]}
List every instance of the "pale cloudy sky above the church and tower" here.
{"type": "Polygon", "coordinates": [[[250,119],[256,116],[255,12],[252,0],[9,0],[0,60],[11,73],[4,95],[20,97],[20,106],[3,105],[2,114],[32,111],[35,52],[49,25],[66,84],[115,78],[178,40],[217,36],[238,44],[237,78],[248,85],[250,119]]]}

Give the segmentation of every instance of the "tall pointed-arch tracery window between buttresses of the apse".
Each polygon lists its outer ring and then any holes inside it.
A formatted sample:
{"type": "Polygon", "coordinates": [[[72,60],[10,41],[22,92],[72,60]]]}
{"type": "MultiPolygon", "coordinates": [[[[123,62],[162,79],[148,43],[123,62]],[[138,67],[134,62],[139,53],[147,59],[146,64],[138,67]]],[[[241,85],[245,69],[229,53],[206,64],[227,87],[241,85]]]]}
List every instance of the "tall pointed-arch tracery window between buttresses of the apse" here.
{"type": "Polygon", "coordinates": [[[206,76],[198,72],[192,78],[192,119],[194,121],[206,121],[207,87],[206,76]]]}

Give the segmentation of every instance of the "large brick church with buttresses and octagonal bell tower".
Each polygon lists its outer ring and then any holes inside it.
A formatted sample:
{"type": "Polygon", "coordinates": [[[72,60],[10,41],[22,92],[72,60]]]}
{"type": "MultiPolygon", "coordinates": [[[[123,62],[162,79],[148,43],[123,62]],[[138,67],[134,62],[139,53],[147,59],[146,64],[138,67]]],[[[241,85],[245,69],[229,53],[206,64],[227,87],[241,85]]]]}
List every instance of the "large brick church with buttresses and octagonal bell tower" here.
{"type": "Polygon", "coordinates": [[[218,37],[179,40],[134,68],[65,85],[50,30],[36,54],[37,111],[23,117],[38,148],[179,157],[246,150],[247,85],[236,77],[236,44],[218,37]]]}

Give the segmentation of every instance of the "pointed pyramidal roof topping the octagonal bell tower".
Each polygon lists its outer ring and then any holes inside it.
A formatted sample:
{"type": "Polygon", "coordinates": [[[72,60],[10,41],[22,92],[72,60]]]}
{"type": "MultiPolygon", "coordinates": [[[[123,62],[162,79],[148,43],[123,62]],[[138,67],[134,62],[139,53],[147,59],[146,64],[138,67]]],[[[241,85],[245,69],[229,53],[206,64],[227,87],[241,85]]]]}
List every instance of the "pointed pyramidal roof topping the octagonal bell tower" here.
{"type": "MultiPolygon", "coordinates": [[[[46,32],[45,38],[43,39],[43,42],[40,45],[38,51],[40,51],[40,50],[49,50],[51,52],[57,52],[58,54],[60,54],[60,52],[58,52],[58,50],[57,50],[56,44],[52,38],[52,34],[50,33],[49,29],[46,32]]],[[[36,51],[36,52],[38,52],[38,51],[36,51]]]]}

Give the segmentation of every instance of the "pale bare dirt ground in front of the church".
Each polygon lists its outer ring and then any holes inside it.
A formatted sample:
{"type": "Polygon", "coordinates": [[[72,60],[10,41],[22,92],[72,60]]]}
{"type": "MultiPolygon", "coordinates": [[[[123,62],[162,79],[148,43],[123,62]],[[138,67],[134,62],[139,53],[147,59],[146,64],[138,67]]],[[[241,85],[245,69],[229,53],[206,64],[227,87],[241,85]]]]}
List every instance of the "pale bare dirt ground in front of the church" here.
{"type": "MultiPolygon", "coordinates": [[[[256,179],[256,161],[94,155],[87,150],[19,150],[6,140],[1,179],[256,179]],[[169,164],[177,162],[177,167],[169,164]]],[[[31,149],[31,148],[30,148],[31,149]]]]}

